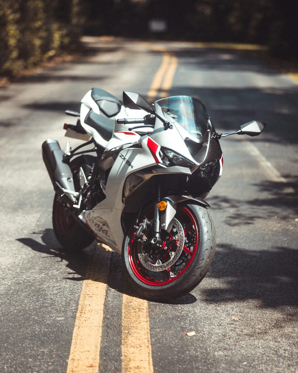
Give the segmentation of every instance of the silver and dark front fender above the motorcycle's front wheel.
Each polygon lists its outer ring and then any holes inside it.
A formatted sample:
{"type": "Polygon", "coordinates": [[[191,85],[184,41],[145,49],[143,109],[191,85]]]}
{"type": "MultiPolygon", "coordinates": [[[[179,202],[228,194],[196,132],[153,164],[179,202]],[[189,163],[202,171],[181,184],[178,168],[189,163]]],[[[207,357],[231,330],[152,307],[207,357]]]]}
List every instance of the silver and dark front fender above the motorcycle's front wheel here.
{"type": "Polygon", "coordinates": [[[164,211],[160,211],[160,226],[167,232],[170,232],[173,228],[174,217],[177,210],[177,204],[182,202],[188,202],[203,207],[210,207],[209,203],[200,197],[192,197],[191,195],[170,195],[164,198],[167,201],[167,208],[164,211]]]}

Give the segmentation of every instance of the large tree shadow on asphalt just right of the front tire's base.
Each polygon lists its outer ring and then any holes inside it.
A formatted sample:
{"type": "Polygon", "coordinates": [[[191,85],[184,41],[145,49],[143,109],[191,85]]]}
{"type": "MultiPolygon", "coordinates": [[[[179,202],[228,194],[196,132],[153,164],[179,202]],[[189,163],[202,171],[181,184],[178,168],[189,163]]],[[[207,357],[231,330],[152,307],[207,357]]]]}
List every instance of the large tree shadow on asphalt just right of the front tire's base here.
{"type": "Polygon", "coordinates": [[[208,277],[224,286],[202,289],[207,303],[256,300],[261,308],[298,306],[298,248],[247,250],[220,244],[208,277]]]}

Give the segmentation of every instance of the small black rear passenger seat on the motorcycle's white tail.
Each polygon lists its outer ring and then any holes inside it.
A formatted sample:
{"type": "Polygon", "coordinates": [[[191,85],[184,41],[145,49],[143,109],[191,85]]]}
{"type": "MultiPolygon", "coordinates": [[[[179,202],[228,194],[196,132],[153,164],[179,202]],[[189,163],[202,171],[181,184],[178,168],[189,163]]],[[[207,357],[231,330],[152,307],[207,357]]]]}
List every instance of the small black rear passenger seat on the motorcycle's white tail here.
{"type": "Polygon", "coordinates": [[[121,101],[100,88],[92,88],[91,97],[99,107],[99,110],[108,118],[117,115],[121,109],[121,101]]]}

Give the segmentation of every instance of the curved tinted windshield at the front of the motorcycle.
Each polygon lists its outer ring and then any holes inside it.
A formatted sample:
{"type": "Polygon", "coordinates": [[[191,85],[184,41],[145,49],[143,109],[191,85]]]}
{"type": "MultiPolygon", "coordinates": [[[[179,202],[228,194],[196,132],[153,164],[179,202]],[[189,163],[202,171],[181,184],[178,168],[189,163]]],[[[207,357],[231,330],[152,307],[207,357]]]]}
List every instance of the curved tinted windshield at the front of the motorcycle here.
{"type": "Polygon", "coordinates": [[[189,96],[174,96],[156,103],[193,137],[200,139],[206,134],[208,114],[201,101],[189,96]]]}

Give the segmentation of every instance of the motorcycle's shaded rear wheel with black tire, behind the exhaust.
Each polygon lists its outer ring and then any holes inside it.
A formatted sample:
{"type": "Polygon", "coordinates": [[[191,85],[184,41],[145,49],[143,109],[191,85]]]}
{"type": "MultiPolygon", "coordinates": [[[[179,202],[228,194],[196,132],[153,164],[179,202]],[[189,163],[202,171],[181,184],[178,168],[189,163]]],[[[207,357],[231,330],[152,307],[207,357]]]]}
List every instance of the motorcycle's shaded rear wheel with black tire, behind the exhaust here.
{"type": "MultiPolygon", "coordinates": [[[[94,159],[95,157],[92,156],[80,156],[70,162],[70,168],[74,175],[75,187],[79,184],[75,179],[75,174],[80,166],[86,163],[92,163],[94,159]]],[[[91,232],[80,225],[80,223],[76,222],[65,204],[60,201],[57,194],[55,194],[54,197],[52,221],[57,241],[67,250],[82,250],[91,245],[95,239],[91,232]]]]}

